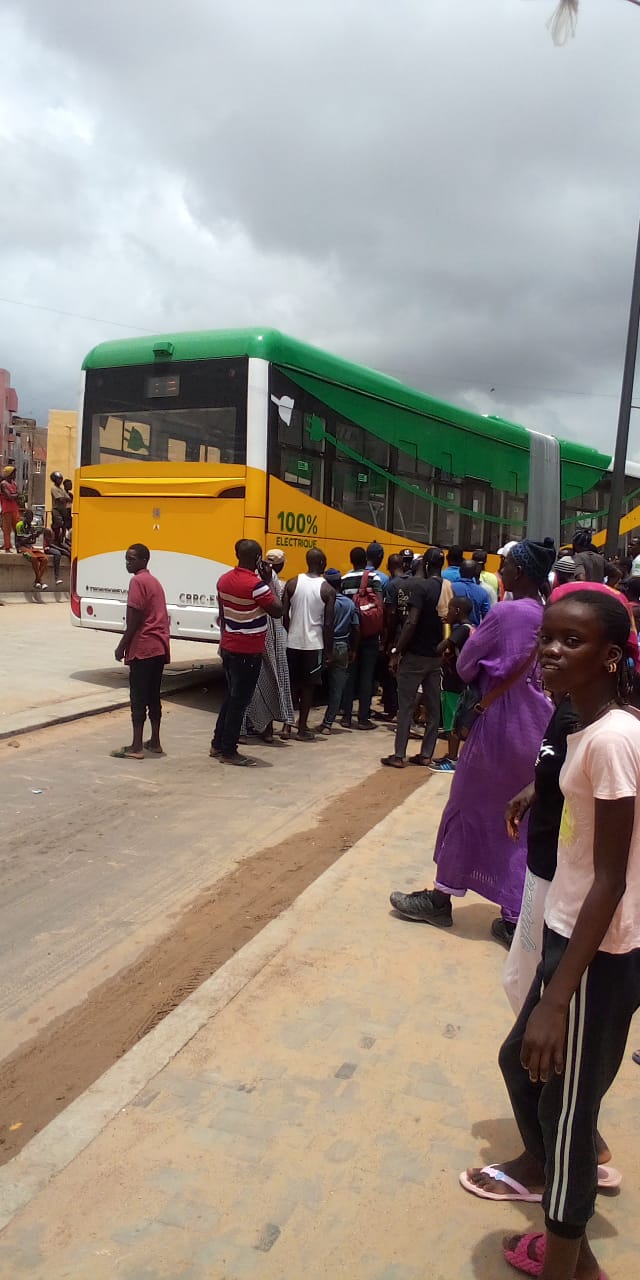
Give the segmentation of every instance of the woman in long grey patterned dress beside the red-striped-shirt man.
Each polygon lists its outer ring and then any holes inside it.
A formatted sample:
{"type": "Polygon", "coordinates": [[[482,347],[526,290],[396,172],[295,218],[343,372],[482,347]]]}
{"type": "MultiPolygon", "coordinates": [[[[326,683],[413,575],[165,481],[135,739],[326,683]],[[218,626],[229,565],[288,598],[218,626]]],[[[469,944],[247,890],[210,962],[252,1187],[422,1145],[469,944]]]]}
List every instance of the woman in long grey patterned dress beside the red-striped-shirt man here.
{"type": "MultiPolygon", "coordinates": [[[[271,591],[280,600],[284,586],[279,575],[284,568],[284,552],[278,547],[266,553],[265,561],[271,566],[271,591]]],[[[282,618],[266,620],[262,666],[244,714],[242,732],[246,733],[251,727],[265,742],[273,742],[274,721],[283,723],[283,736],[288,736],[287,730],[291,733],[291,726],[296,721],[287,663],[287,632],[282,618]]]]}

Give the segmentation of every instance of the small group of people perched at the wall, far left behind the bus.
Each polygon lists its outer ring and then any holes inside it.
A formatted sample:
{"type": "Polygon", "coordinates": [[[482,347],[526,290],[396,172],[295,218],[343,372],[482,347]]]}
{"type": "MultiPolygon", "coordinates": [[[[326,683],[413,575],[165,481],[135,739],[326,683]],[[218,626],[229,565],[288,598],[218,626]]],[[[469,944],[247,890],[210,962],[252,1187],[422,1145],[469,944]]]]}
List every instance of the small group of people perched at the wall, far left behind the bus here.
{"type": "Polygon", "coordinates": [[[63,582],[60,564],[70,561],[73,485],[64,480],[61,471],[52,471],[51,481],[51,524],[40,527],[35,524],[31,507],[20,509],[15,467],[9,463],[3,468],[0,479],[0,512],[3,517],[3,550],[12,556],[24,556],[33,570],[33,586],[46,591],[45,573],[52,566],[55,585],[63,582]],[[12,547],[12,535],[14,545],[12,547]],[[42,545],[38,545],[42,540],[42,545]]]}

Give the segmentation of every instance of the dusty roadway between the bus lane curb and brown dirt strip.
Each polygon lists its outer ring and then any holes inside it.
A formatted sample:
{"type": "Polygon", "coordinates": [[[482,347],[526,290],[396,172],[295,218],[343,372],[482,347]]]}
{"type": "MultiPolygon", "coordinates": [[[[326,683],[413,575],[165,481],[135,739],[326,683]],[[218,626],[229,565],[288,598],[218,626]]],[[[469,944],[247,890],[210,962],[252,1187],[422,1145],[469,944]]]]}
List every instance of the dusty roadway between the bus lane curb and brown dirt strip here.
{"type": "Polygon", "coordinates": [[[209,759],[219,689],[165,704],[165,759],[113,760],[127,712],[0,742],[0,1043],[10,1052],[160,937],[200,890],[307,829],[376,767],[388,733],[209,759]],[[383,741],[380,741],[383,740],[383,741]]]}

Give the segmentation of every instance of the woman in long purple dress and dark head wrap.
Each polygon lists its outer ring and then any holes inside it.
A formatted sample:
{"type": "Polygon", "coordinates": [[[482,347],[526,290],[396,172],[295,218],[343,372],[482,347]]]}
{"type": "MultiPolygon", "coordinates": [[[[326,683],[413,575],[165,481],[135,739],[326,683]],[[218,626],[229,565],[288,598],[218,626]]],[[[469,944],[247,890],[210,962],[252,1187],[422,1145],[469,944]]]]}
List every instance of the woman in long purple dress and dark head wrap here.
{"type": "Polygon", "coordinates": [[[458,675],[480,686],[483,698],[530,664],[515,684],[486,708],[467,739],[442,815],[434,860],[433,890],[392,893],[392,906],[410,920],[438,928],[453,924],[452,897],[474,890],[497,902],[502,915],[492,933],[511,945],[522,902],[526,872],[526,823],[515,844],[504,826],[512,795],[531,781],[550,707],[538,676],[538,628],[543,617],[540,589],[554,552],[541,543],[517,543],[504,562],[502,579],[512,599],[497,604],[467,640],[458,675]]]}

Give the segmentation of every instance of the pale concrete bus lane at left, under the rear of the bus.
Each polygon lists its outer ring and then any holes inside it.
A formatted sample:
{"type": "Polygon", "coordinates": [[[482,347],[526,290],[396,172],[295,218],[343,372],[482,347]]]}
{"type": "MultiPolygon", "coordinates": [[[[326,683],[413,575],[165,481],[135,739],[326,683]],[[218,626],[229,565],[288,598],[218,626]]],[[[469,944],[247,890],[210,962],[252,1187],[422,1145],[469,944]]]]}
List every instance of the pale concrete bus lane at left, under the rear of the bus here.
{"type": "MultiPolygon", "coordinates": [[[[114,659],[115,639],[69,621],[68,603],[5,604],[0,611],[0,736],[127,701],[127,668],[114,659]]],[[[174,640],[165,687],[196,667],[218,668],[215,645],[174,640]]]]}

